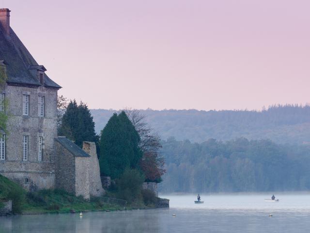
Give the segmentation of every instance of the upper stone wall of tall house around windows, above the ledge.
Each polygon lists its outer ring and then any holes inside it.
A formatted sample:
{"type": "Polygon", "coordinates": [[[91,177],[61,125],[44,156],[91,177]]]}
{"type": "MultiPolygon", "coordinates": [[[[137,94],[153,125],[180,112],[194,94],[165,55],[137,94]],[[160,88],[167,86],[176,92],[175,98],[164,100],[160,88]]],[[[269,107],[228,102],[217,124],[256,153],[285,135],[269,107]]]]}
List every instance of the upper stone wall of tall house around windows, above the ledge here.
{"type": "MultiPolygon", "coordinates": [[[[2,92],[2,91],[1,91],[2,92]]],[[[29,162],[38,162],[38,136],[44,137],[43,161],[53,161],[54,138],[57,136],[57,90],[9,86],[5,90],[8,100],[7,160],[23,160],[23,135],[29,136],[29,162]],[[29,95],[29,115],[23,116],[23,95],[29,95]],[[45,97],[45,116],[38,116],[38,97],[45,97]]]]}

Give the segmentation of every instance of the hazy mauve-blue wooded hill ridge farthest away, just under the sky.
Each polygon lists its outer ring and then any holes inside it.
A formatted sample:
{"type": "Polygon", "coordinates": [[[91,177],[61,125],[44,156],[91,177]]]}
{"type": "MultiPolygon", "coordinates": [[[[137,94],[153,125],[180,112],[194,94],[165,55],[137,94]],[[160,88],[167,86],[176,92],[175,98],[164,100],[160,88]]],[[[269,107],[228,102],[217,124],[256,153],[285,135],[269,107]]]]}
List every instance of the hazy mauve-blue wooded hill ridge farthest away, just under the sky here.
{"type": "MultiPolygon", "coordinates": [[[[97,133],[115,110],[91,110],[97,133]]],[[[203,142],[209,138],[271,139],[279,144],[310,143],[310,106],[274,105],[262,111],[140,110],[160,137],[203,142]]]]}

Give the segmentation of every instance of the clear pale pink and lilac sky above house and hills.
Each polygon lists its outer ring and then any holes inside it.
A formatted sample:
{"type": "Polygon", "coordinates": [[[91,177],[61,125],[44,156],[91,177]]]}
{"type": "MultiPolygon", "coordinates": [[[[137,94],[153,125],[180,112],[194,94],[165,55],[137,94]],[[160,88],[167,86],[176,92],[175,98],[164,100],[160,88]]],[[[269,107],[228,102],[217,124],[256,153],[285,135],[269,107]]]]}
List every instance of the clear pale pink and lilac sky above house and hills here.
{"type": "Polygon", "coordinates": [[[309,0],[0,0],[90,108],[261,109],[310,97],[309,0]]]}

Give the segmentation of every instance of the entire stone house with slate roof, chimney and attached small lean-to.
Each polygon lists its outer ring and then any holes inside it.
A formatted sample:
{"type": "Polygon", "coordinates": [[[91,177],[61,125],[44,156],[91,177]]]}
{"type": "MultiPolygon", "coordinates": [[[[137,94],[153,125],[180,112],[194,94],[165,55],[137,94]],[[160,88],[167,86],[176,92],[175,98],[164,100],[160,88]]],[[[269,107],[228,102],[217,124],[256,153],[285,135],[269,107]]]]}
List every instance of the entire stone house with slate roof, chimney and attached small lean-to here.
{"type": "Polygon", "coordinates": [[[57,135],[57,91],[61,86],[31,56],[10,27],[10,10],[0,9],[0,111],[9,116],[0,131],[0,174],[35,191],[62,188],[90,199],[102,196],[93,142],[83,150],[57,135]],[[5,107],[7,103],[7,107],[5,107]]]}

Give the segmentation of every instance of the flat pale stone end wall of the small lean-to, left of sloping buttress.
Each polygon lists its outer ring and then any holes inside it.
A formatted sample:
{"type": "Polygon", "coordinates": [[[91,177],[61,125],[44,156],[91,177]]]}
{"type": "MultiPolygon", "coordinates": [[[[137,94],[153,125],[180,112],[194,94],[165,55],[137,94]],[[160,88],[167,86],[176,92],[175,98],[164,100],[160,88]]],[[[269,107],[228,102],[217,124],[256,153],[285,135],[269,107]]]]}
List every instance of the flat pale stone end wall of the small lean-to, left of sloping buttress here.
{"type": "Polygon", "coordinates": [[[83,196],[86,200],[91,198],[89,182],[90,159],[91,157],[75,157],[76,196],[83,196]]]}

